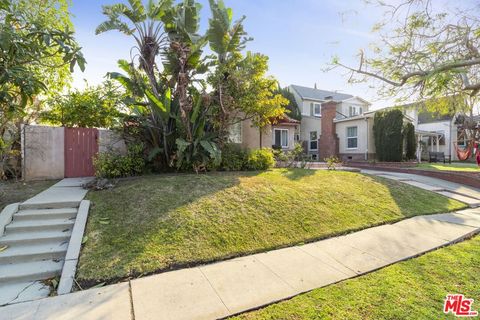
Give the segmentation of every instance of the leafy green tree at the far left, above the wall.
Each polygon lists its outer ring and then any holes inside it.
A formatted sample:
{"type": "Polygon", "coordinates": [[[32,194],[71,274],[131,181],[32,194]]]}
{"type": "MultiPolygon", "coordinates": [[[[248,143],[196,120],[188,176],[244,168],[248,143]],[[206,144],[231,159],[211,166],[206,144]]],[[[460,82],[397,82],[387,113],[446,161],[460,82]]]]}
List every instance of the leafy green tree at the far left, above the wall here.
{"type": "Polygon", "coordinates": [[[62,0],[0,1],[0,178],[19,145],[28,106],[38,95],[60,90],[75,65],[85,67],[68,17],[62,0]]]}

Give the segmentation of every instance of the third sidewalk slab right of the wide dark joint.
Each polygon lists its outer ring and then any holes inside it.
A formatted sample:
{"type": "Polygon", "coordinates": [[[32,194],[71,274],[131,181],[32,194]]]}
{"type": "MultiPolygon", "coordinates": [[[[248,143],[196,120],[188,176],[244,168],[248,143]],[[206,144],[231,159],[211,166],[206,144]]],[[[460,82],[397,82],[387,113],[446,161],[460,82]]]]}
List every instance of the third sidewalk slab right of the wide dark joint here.
{"type": "Polygon", "coordinates": [[[350,277],[296,247],[257,254],[255,258],[298,293],[350,277]]]}

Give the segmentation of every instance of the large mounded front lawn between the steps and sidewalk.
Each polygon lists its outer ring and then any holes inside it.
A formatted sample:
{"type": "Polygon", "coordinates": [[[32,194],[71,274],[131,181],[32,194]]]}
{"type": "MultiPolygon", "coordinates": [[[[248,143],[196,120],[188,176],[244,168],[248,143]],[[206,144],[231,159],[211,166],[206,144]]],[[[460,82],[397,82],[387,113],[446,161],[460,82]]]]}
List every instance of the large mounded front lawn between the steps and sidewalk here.
{"type": "Polygon", "coordinates": [[[464,207],[392,180],[302,169],[147,176],[88,198],[84,285],[464,207]]]}

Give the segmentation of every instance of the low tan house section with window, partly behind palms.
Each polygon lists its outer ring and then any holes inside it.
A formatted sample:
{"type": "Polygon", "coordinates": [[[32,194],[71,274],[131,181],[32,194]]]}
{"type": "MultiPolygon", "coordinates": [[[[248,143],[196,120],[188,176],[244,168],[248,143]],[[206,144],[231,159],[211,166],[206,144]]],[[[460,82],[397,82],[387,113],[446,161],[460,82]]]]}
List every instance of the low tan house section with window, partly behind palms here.
{"type": "Polygon", "coordinates": [[[249,119],[239,121],[230,128],[230,141],[247,149],[278,147],[285,151],[295,147],[295,136],[298,136],[300,121],[284,116],[277,119],[274,125],[262,130],[255,127],[249,119]]]}

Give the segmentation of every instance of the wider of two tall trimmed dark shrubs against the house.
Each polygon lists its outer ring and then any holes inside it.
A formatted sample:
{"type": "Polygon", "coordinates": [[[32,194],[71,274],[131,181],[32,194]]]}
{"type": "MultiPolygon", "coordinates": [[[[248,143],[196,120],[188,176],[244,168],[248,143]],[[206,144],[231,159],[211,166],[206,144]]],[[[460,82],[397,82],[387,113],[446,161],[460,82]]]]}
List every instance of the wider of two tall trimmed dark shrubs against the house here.
{"type": "Polygon", "coordinates": [[[403,113],[398,110],[375,113],[373,135],[379,161],[400,162],[403,156],[403,113]]]}

